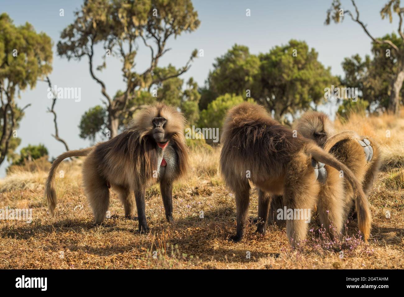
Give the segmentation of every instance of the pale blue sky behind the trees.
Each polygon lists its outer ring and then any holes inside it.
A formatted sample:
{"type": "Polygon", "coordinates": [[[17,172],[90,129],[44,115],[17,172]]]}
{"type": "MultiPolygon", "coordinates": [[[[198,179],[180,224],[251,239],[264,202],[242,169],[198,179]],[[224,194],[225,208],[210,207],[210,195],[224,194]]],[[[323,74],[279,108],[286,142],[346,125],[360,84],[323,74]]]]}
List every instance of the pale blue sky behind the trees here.
{"type": "MultiPolygon", "coordinates": [[[[346,8],[352,9],[350,1],[342,2],[346,8]]],[[[379,11],[385,2],[357,0],[362,21],[368,24],[369,31],[376,37],[397,29],[397,18],[393,19],[392,24],[388,20],[381,20],[379,11]]],[[[56,105],[59,134],[71,149],[90,144],[78,137],[78,124],[84,111],[100,104],[102,97],[99,85],[90,78],[86,59],[68,62],[55,52],[61,31],[73,21],[73,12],[82,3],[82,0],[0,0],[0,13],[8,13],[16,25],[27,21],[37,32],[43,31],[53,39],[52,83],[81,88],[80,102],[63,99],[58,100],[56,105]],[[65,11],[64,17],[59,16],[60,8],[65,11]]],[[[172,63],[181,67],[194,48],[203,49],[204,57],[196,59],[191,69],[182,76],[184,79],[194,77],[199,85],[204,83],[214,59],[235,43],[244,44],[251,53],[257,54],[267,52],[275,45],[285,44],[292,38],[305,40],[316,49],[319,60],[325,66],[330,66],[335,75],[342,74],[341,62],[344,57],[370,53],[370,39],[351,19],[347,18],[338,25],[324,25],[331,0],[194,0],[193,3],[201,21],[200,27],[191,34],[171,39],[168,47],[173,49],[164,55],[160,65],[172,63]],[[250,17],[246,17],[247,8],[251,10],[250,17]]],[[[97,57],[101,55],[101,51],[96,53],[97,57]]],[[[140,47],[136,61],[137,69],[144,70],[149,64],[149,52],[140,47]]],[[[105,81],[110,95],[124,87],[120,68],[121,64],[112,58],[107,63],[107,69],[98,74],[105,81]]],[[[19,149],[28,144],[44,143],[50,156],[57,156],[64,151],[64,147],[51,136],[54,133],[53,116],[46,112],[50,106],[50,99],[46,95],[47,85],[44,82],[38,82],[34,90],[21,93],[19,105],[32,103],[32,106],[26,110],[25,118],[21,121],[18,136],[22,141],[19,149]]],[[[331,112],[335,110],[332,107],[325,109],[330,111],[330,108],[331,112]]],[[[4,176],[6,166],[8,164],[4,162],[0,167],[0,176],[4,176]]]]}

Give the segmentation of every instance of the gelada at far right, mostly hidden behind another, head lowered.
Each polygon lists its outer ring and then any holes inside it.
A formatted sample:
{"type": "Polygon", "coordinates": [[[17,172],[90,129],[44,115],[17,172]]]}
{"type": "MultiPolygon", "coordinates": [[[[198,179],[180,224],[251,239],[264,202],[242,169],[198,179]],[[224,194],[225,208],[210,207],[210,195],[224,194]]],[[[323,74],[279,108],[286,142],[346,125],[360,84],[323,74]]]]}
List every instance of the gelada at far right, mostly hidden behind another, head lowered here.
{"type": "MultiPolygon", "coordinates": [[[[345,164],[361,182],[366,196],[372,189],[380,169],[380,149],[375,140],[355,132],[337,133],[334,123],[322,112],[306,112],[293,125],[303,137],[314,140],[345,164]]],[[[345,183],[345,217],[353,205],[352,187],[345,183]]]]}

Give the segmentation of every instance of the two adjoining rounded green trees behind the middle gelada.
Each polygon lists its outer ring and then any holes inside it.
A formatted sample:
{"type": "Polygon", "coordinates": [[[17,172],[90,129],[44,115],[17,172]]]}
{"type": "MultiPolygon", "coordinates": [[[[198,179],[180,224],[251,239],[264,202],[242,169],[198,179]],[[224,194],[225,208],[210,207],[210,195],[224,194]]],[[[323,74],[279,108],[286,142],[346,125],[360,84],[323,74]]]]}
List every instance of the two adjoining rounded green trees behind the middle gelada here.
{"type": "Polygon", "coordinates": [[[324,88],[337,82],[318,61],[318,53],[305,42],[290,40],[275,46],[269,53],[252,55],[248,47],[234,45],[216,59],[201,101],[208,105],[225,93],[254,98],[275,118],[318,104],[324,99],[324,88]]]}

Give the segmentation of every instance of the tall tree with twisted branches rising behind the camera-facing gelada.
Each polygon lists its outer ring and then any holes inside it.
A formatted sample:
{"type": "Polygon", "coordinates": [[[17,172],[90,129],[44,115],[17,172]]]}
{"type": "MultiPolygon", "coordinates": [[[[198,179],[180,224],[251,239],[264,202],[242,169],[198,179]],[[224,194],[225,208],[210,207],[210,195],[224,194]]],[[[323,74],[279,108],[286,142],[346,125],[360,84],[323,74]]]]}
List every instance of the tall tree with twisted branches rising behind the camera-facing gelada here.
{"type": "Polygon", "coordinates": [[[76,13],[74,23],[61,33],[57,44],[60,56],[67,59],[88,59],[90,76],[101,86],[103,103],[107,113],[107,128],[111,137],[118,134],[120,118],[139,108],[139,100],[144,90],[185,73],[191,61],[196,57],[194,50],[187,63],[170,73],[161,76],[156,72],[160,58],[170,50],[167,40],[183,32],[192,32],[200,24],[198,13],[190,0],[86,0],[76,13]],[[126,88],[111,97],[105,82],[95,73],[95,46],[102,44],[106,58],[119,57],[122,61],[122,75],[126,88]],[[135,70],[135,58],[143,44],[149,48],[150,64],[143,72],[135,70]]]}

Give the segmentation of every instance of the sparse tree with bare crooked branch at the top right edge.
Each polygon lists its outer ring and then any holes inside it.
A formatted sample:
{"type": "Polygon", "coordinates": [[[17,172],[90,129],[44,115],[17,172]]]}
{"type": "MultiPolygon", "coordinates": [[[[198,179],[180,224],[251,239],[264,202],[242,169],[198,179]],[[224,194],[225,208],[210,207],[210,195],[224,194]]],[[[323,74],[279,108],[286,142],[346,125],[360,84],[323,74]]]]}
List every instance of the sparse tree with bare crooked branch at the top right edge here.
{"type": "MultiPolygon", "coordinates": [[[[400,104],[400,92],[404,81],[404,44],[402,40],[404,40],[404,32],[402,30],[402,22],[404,16],[404,7],[400,7],[400,0],[389,0],[387,3],[381,8],[380,15],[382,19],[386,17],[389,18],[390,23],[393,21],[393,13],[398,16],[398,29],[397,32],[400,36],[399,42],[394,42],[388,38],[375,38],[370,34],[366,25],[359,18],[359,9],[354,0],[351,0],[351,3],[355,9],[355,13],[351,12],[349,9],[343,9],[341,6],[340,0],[333,0],[331,7],[327,10],[326,17],[326,25],[329,25],[331,21],[335,23],[340,23],[344,20],[345,15],[349,15],[352,21],[358,23],[365,34],[369,36],[372,40],[373,46],[375,45],[385,45],[386,49],[391,51],[391,55],[396,57],[396,67],[391,69],[390,72],[393,74],[390,79],[390,96],[387,110],[393,112],[394,114],[398,113],[399,104],[400,104]]],[[[386,58],[389,58],[389,55],[386,55],[386,58]]]]}

